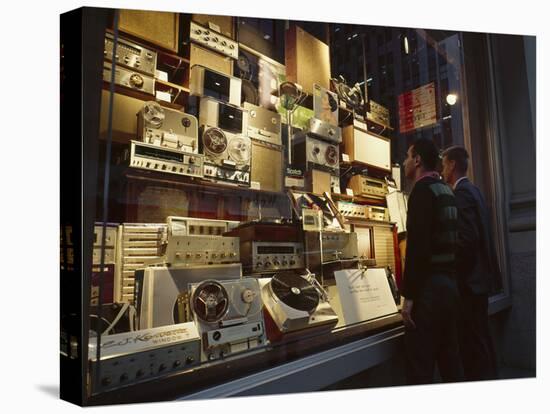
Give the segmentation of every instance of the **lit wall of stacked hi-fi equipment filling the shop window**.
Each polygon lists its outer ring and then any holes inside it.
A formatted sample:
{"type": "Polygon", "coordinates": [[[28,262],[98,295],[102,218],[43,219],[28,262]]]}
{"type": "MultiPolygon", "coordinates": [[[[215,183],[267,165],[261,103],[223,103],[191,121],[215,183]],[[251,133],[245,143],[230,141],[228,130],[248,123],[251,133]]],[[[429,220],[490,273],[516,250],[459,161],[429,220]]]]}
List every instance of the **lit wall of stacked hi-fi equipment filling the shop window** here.
{"type": "MultiPolygon", "coordinates": [[[[233,359],[252,372],[281,344],[307,354],[400,320],[406,198],[387,109],[331,71],[326,41],[289,22],[283,65],[243,26],[120,10],[105,34],[109,223],[99,196],[91,306],[106,316],[92,323],[90,398],[233,359]],[[379,289],[378,313],[346,302],[357,274],[379,289]]],[[[71,246],[64,228],[62,266],[71,246]]]]}

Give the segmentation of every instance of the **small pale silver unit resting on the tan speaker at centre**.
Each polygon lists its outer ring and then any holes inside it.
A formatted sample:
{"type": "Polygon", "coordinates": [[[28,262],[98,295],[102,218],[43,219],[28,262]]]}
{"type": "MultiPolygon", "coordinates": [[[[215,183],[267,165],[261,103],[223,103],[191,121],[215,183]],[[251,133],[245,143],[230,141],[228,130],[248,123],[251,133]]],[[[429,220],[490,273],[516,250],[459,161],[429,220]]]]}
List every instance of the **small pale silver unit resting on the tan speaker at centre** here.
{"type": "Polygon", "coordinates": [[[281,115],[245,102],[248,111],[248,136],[267,144],[281,146],[281,115]]]}

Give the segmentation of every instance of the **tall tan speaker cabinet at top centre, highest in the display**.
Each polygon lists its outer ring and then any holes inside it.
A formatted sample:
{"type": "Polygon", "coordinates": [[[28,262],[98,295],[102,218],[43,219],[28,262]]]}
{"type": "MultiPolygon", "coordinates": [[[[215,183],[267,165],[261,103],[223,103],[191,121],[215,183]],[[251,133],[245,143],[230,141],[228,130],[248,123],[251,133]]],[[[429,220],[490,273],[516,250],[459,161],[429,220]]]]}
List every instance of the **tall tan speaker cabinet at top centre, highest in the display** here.
{"type": "Polygon", "coordinates": [[[330,89],[329,47],[298,26],[286,32],[286,78],[313,95],[313,84],[330,89]]]}

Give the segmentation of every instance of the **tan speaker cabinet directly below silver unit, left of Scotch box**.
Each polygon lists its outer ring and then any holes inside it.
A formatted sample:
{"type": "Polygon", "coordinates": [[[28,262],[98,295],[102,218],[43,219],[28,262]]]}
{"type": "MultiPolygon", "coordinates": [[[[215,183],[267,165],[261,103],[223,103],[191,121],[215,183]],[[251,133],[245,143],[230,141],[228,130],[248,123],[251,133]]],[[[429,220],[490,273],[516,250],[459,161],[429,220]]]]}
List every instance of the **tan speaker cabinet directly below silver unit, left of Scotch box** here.
{"type": "Polygon", "coordinates": [[[261,190],[283,190],[283,150],[281,147],[252,141],[251,181],[260,184],[261,190]]]}

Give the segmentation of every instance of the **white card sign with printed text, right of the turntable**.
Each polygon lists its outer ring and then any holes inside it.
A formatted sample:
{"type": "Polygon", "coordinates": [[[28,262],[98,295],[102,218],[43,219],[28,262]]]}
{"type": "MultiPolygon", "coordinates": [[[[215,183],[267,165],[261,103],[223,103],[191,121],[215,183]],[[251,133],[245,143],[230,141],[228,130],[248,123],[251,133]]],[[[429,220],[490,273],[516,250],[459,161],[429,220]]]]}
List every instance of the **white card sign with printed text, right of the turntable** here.
{"type": "Polygon", "coordinates": [[[334,272],[346,325],[397,312],[386,269],[346,269],[334,272]]]}

